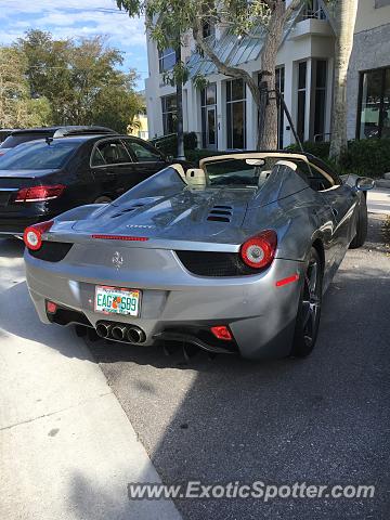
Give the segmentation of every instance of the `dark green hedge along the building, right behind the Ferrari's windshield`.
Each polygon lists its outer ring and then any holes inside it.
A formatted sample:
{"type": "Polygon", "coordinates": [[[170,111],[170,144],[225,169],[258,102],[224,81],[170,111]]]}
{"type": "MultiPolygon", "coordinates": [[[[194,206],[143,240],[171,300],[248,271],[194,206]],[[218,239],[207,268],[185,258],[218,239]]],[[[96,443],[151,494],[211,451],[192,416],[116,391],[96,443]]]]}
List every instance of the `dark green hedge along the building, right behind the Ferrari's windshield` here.
{"type": "MultiPolygon", "coordinates": [[[[298,145],[287,150],[299,152],[298,145]]],[[[329,143],[303,143],[303,150],[325,160],[341,173],[356,173],[368,177],[381,177],[390,171],[390,139],[362,139],[350,141],[348,152],[340,158],[338,167],[328,158],[329,143]]]]}

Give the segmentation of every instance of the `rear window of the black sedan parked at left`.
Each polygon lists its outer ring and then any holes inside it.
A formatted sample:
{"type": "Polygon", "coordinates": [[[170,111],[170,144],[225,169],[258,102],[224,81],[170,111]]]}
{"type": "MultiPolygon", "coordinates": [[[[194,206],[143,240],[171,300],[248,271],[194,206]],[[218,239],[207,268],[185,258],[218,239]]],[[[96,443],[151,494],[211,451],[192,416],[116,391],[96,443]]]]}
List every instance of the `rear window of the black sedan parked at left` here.
{"type": "Polygon", "coordinates": [[[53,170],[61,168],[80,143],[39,141],[26,143],[0,157],[1,170],[53,170]]]}

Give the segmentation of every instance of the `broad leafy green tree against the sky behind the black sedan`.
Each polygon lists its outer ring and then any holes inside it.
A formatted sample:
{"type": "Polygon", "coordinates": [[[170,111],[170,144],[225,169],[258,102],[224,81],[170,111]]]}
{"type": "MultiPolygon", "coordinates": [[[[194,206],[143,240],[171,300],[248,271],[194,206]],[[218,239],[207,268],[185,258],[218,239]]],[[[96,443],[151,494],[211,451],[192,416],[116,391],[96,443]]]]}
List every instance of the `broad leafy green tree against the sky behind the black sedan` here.
{"type": "Polygon", "coordinates": [[[126,132],[144,105],[135,92],[136,74],[123,74],[122,55],[98,36],[54,40],[50,32],[30,30],[15,51],[26,56],[26,76],[34,98],[50,103],[56,125],[104,125],[126,132]]]}

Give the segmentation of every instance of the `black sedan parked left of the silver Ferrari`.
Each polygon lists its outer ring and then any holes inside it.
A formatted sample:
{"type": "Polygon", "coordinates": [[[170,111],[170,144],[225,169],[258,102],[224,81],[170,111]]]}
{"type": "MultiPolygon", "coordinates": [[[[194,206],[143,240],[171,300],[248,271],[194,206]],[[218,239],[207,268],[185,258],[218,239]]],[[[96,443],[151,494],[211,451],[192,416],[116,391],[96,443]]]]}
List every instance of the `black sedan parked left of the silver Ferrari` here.
{"type": "Polygon", "coordinates": [[[165,168],[155,147],[128,135],[47,138],[0,158],[0,235],[84,204],[114,200],[165,168]]]}

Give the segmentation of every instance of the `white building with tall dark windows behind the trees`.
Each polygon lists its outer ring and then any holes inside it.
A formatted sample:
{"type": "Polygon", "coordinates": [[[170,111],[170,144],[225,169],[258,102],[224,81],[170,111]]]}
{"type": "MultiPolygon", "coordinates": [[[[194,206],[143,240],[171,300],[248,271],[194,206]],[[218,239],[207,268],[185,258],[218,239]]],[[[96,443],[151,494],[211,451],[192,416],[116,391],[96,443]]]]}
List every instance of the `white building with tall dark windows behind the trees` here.
{"type": "MultiPolygon", "coordinates": [[[[220,56],[227,56],[232,65],[245,67],[253,78],[258,76],[261,40],[237,39],[218,30],[209,38],[220,56]]],[[[312,0],[311,9],[301,10],[286,27],[276,67],[277,87],[298,134],[304,141],[329,139],[334,48],[332,15],[322,0],[312,0]]],[[[146,103],[150,136],[154,138],[174,131],[174,88],[164,83],[162,73],[172,68],[176,54],[169,49],[158,52],[151,39],[147,52],[146,103]]],[[[191,38],[182,54],[192,76],[200,73],[209,83],[205,91],[196,90],[191,80],[184,86],[184,130],[197,133],[199,147],[255,148],[256,105],[245,84],[218,74],[210,62],[195,53],[191,38]]],[[[387,135],[390,121],[387,112],[390,109],[390,0],[359,2],[348,89],[349,138],[387,135]]],[[[280,147],[295,142],[282,113],[278,133],[280,147]]]]}

